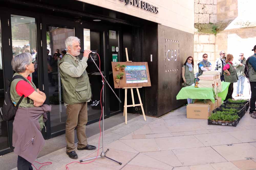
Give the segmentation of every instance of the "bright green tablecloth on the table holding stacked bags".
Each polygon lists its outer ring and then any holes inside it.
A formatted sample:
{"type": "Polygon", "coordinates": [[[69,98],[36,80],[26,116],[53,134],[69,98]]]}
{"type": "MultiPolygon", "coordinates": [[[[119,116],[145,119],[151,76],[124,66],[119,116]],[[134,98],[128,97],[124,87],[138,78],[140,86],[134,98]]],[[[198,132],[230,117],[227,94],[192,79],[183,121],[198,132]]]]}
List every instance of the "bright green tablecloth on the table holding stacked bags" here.
{"type": "MultiPolygon", "coordinates": [[[[221,92],[218,93],[218,97],[221,97],[222,101],[225,100],[228,94],[229,84],[229,82],[221,82],[221,92]]],[[[176,99],[210,99],[214,103],[214,96],[215,93],[213,88],[199,88],[191,85],[183,87],[176,96],[176,99]]]]}

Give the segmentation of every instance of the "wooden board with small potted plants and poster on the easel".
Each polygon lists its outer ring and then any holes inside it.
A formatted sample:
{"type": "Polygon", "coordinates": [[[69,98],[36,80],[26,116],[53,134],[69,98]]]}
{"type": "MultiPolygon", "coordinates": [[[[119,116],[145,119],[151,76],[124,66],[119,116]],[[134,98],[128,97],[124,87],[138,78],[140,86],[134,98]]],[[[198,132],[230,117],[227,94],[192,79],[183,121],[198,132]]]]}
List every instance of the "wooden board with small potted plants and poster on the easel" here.
{"type": "Polygon", "coordinates": [[[114,87],[151,86],[147,62],[111,62],[114,87]]]}

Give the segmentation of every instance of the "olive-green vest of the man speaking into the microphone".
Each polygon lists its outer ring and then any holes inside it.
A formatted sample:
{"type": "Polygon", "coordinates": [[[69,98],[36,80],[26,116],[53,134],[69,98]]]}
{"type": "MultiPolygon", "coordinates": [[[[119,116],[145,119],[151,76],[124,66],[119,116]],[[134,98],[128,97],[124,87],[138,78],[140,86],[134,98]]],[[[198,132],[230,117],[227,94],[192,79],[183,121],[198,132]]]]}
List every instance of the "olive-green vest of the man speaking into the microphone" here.
{"type": "MultiPolygon", "coordinates": [[[[78,66],[71,55],[66,54],[59,64],[64,61],[75,67],[78,66]]],[[[79,62],[81,61],[79,60],[79,62]]],[[[60,78],[63,86],[63,100],[66,104],[77,104],[91,99],[91,86],[86,70],[80,77],[71,77],[65,73],[65,70],[60,69],[60,78]]]]}

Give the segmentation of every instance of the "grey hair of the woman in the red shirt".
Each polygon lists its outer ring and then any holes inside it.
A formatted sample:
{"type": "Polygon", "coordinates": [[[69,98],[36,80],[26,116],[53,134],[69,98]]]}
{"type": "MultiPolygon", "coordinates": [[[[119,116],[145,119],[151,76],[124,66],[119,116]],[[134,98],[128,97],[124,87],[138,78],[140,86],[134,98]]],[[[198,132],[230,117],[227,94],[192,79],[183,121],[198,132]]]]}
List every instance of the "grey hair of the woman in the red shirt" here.
{"type": "Polygon", "coordinates": [[[12,59],[12,67],[16,73],[24,73],[26,66],[32,61],[33,57],[30,53],[22,53],[12,59]]]}

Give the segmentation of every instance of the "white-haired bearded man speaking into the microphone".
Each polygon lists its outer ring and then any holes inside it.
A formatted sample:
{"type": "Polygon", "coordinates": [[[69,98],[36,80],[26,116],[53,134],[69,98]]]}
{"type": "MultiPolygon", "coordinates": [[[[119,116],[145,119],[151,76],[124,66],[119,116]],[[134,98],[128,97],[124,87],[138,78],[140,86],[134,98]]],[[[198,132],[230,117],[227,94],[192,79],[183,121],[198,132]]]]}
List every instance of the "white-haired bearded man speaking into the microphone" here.
{"type": "Polygon", "coordinates": [[[91,101],[91,87],[86,72],[91,50],[85,50],[80,60],[80,39],[70,36],[65,41],[67,53],[59,62],[60,78],[63,87],[64,105],[67,106],[66,142],[69,158],[78,159],[74,144],[74,129],[77,127],[78,150],[94,150],[88,145],[85,127],[88,121],[87,102],[91,101]]]}

